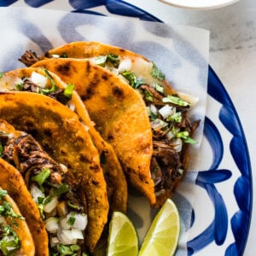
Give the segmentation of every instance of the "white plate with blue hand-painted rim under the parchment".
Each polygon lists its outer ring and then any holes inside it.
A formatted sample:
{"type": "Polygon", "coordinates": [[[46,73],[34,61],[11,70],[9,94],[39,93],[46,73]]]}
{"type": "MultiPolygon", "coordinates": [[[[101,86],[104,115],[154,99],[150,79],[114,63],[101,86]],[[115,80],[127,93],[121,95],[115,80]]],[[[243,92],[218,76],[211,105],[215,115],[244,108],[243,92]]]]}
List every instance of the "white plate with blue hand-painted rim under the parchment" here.
{"type": "MultiPolygon", "coordinates": [[[[161,21],[118,0],[5,0],[0,6],[52,8],[92,15],[122,15],[161,21]]],[[[45,38],[44,38],[45,39],[45,38]]],[[[47,44],[44,40],[44,44],[47,44]]],[[[47,45],[44,45],[47,47],[47,45]]],[[[209,67],[207,116],[201,144],[204,168],[196,179],[198,193],[189,227],[189,255],[241,255],[247,244],[252,213],[252,170],[247,142],[230,96],[209,67]]]]}

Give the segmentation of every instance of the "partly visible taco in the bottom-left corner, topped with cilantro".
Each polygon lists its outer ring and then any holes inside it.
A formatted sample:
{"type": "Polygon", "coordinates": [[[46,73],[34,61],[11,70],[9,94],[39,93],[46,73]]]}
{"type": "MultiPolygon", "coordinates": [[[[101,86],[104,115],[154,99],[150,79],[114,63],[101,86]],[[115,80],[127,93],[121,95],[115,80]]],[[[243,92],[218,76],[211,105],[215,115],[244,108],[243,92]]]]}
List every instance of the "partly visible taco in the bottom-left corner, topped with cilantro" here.
{"type": "MultiPolygon", "coordinates": [[[[0,160],[1,163],[1,160],[0,160]]],[[[1,168],[0,172],[5,172],[1,168]]],[[[3,182],[3,180],[1,180],[3,182]]],[[[5,180],[5,182],[9,182],[5,180]]],[[[16,191],[19,193],[19,191],[16,191]]],[[[0,255],[33,256],[35,246],[26,219],[19,207],[9,196],[7,190],[0,187],[0,255]]]]}

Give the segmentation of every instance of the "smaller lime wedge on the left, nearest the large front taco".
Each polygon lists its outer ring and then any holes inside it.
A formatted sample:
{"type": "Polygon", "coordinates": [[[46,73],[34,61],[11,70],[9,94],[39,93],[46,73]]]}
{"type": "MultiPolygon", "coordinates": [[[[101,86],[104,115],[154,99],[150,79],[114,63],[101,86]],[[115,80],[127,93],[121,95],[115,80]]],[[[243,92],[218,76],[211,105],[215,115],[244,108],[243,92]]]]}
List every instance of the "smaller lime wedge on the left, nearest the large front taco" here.
{"type": "Polygon", "coordinates": [[[131,220],[122,212],[113,212],[108,234],[108,256],[137,256],[137,232],[131,220]]]}

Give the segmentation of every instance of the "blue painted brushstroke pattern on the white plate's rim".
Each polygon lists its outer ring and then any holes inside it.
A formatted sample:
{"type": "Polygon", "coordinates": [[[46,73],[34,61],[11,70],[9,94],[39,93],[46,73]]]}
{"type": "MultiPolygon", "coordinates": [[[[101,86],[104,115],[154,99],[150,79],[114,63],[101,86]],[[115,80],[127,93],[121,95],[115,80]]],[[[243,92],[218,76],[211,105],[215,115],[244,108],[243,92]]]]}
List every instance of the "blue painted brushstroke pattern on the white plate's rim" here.
{"type": "MultiPolygon", "coordinates": [[[[0,2],[0,6],[6,7],[16,2],[18,1],[4,0],[0,2]]],[[[51,2],[54,1],[25,0],[26,5],[33,8],[44,7],[44,5],[51,2]]],[[[143,11],[143,9],[138,9],[130,3],[118,0],[69,0],[68,3],[70,5],[70,11],[73,12],[94,15],[125,15],[137,17],[140,20],[161,21],[143,11]],[[102,14],[102,11],[97,10],[97,7],[101,6],[105,6],[108,10],[107,14],[102,14]]],[[[207,170],[201,170],[199,172],[196,184],[206,191],[214,209],[214,217],[200,234],[188,241],[188,254],[192,255],[203,252],[204,248],[214,243],[216,247],[224,247],[222,250],[224,255],[242,255],[247,243],[253,200],[252,170],[246,137],[230,96],[210,66],[207,93],[211,97],[211,101],[214,100],[221,105],[218,119],[224,125],[224,129],[231,134],[230,156],[238,170],[236,180],[232,183],[237,210],[236,212],[229,213],[228,204],[217,186],[218,183],[229,181],[234,176],[234,172],[237,171],[223,168],[224,150],[227,150],[227,146],[224,145],[222,133],[219,131],[218,126],[207,116],[205,119],[204,137],[211,145],[212,165],[207,170]],[[229,230],[232,233],[233,239],[227,245],[225,241],[227,240],[229,230]]],[[[194,212],[192,214],[191,227],[195,223],[195,218],[196,214],[194,212]]]]}

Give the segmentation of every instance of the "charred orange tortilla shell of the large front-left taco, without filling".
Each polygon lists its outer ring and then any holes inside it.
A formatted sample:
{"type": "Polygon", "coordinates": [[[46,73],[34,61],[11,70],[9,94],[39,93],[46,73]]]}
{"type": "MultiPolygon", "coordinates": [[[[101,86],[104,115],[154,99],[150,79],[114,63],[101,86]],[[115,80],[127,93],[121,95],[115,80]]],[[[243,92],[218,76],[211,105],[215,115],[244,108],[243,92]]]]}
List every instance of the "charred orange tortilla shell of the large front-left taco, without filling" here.
{"type": "Polygon", "coordinates": [[[81,189],[88,224],[84,241],[94,250],[108,220],[108,198],[99,154],[79,117],[47,96],[1,92],[0,115],[15,129],[31,134],[57,162],[68,168],[67,183],[81,189]]]}

